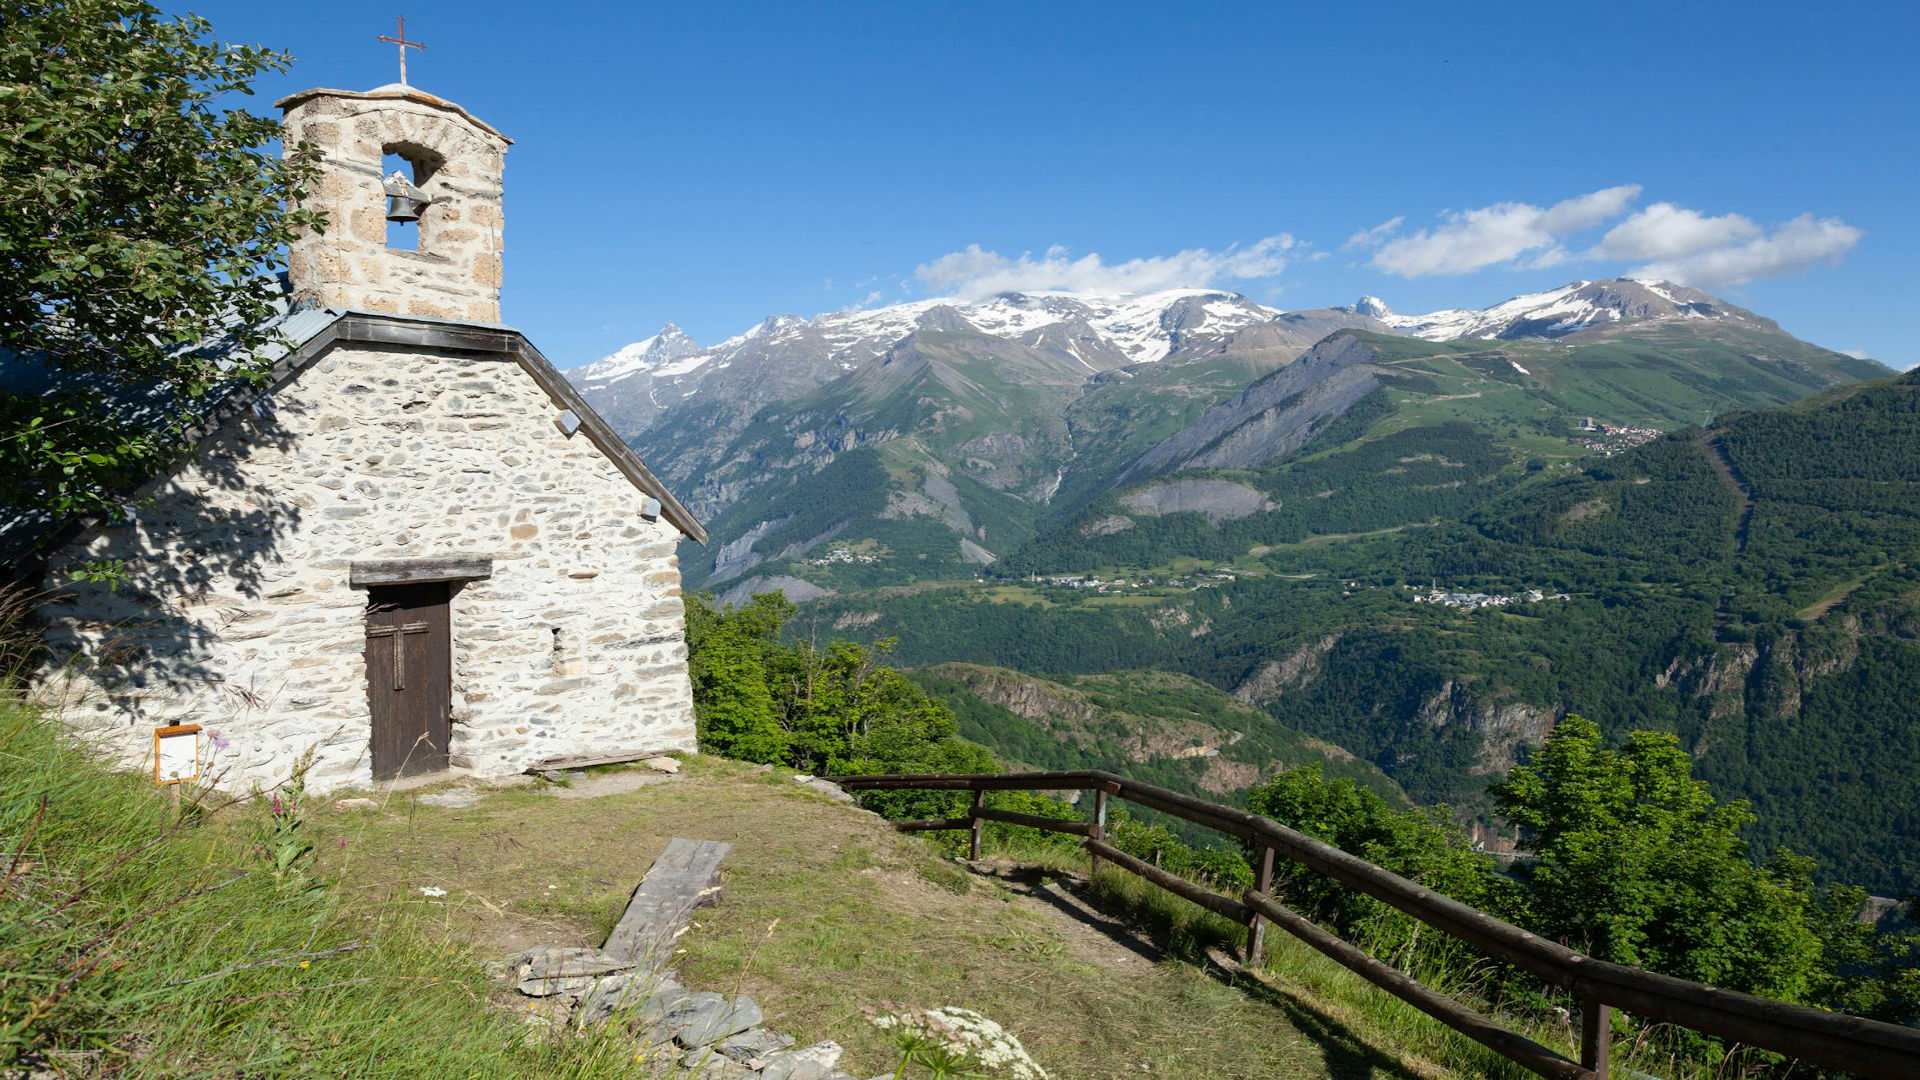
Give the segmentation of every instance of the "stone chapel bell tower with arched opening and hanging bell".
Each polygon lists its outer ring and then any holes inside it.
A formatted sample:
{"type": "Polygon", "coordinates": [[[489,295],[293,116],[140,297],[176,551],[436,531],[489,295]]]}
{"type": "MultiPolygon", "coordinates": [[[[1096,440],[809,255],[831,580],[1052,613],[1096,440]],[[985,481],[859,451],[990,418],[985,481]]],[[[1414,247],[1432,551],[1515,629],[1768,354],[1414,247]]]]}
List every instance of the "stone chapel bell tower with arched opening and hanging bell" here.
{"type": "Polygon", "coordinates": [[[282,144],[321,152],[326,215],[288,252],[294,296],[324,307],[499,323],[501,171],[511,138],[403,83],[278,102],[282,144]]]}

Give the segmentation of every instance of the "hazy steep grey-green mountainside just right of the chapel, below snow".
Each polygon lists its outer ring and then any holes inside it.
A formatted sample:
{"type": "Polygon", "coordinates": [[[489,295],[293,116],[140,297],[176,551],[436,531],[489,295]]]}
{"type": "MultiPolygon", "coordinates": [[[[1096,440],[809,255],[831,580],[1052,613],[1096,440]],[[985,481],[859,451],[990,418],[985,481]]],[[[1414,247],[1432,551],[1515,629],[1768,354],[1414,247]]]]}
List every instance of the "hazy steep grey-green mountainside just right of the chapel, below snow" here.
{"type": "Polygon", "coordinates": [[[1031,534],[1083,377],[1004,338],[918,331],[762,409],[708,479],[747,494],[710,523],[730,540],[689,552],[689,584],[797,578],[839,590],[977,573],[995,548],[1031,534]]]}

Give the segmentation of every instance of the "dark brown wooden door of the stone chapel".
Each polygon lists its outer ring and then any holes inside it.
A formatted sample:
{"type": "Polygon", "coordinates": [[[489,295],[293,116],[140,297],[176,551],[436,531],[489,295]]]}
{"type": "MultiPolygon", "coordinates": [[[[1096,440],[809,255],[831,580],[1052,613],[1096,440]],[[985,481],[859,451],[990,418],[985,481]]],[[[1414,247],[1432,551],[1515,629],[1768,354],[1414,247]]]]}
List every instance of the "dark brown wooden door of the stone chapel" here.
{"type": "Polygon", "coordinates": [[[453,630],[447,582],[367,590],[367,707],[372,778],[447,767],[453,630]]]}

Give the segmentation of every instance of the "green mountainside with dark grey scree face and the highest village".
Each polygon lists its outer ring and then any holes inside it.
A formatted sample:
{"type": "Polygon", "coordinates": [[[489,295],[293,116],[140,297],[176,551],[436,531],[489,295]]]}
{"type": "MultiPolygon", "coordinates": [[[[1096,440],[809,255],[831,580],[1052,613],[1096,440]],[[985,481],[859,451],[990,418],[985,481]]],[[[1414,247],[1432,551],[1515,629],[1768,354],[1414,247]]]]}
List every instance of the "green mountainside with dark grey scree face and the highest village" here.
{"type": "Polygon", "coordinates": [[[1116,471],[1114,490],[1044,525],[1004,569],[1231,559],[1452,519],[1596,448],[1876,375],[1872,361],[1713,321],[1553,342],[1342,331],[1116,471]],[[1624,430],[1584,430],[1597,425],[1624,430]]]}

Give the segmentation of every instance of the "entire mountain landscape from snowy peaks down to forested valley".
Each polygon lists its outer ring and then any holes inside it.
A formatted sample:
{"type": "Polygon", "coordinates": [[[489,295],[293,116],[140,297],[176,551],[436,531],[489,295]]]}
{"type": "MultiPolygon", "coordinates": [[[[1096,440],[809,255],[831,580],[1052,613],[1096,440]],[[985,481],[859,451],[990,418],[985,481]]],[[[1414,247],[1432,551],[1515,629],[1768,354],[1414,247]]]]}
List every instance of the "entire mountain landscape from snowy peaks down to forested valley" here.
{"type": "Polygon", "coordinates": [[[1763,851],[1907,890],[1920,384],[1889,375],[1647,281],[922,300],[574,373],[707,519],[689,588],[895,638],[1010,761],[1221,798],[1321,763],[1503,844],[1486,782],[1578,711],[1680,738],[1763,851]]]}

